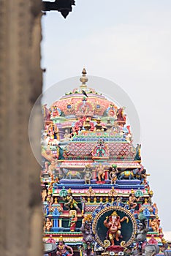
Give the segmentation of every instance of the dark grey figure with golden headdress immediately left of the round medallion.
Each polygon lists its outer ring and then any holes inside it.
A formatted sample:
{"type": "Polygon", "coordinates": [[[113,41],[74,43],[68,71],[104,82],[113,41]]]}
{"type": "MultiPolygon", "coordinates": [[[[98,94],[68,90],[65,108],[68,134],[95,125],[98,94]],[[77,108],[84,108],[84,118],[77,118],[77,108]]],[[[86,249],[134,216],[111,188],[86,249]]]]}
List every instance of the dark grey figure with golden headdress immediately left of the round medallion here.
{"type": "Polygon", "coordinates": [[[86,214],[80,227],[80,231],[83,233],[83,256],[94,255],[94,238],[91,230],[91,222],[91,214],[86,214]]]}

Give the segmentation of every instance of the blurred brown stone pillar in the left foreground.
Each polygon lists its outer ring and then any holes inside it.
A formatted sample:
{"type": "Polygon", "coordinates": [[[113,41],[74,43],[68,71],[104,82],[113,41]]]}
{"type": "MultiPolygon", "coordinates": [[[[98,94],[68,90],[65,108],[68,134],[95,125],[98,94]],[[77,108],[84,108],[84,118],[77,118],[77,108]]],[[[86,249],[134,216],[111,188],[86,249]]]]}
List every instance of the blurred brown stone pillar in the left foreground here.
{"type": "MultiPolygon", "coordinates": [[[[42,91],[40,0],[0,0],[0,254],[42,256],[40,166],[28,121],[42,91]]],[[[34,118],[39,143],[41,108],[34,118]]],[[[37,144],[38,144],[37,143],[37,144]]]]}

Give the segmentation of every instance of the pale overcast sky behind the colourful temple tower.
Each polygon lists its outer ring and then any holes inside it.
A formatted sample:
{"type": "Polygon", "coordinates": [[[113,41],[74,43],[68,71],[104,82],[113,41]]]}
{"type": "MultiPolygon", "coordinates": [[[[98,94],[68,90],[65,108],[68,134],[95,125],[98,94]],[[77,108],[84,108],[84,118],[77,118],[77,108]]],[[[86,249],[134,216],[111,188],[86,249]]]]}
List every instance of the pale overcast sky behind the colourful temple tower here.
{"type": "MultiPolygon", "coordinates": [[[[66,20],[59,12],[43,16],[42,29],[44,90],[86,67],[88,75],[111,80],[129,95],[140,118],[153,202],[161,227],[171,230],[171,1],[76,0],[66,20]]],[[[115,91],[110,96],[117,98],[115,91]]]]}

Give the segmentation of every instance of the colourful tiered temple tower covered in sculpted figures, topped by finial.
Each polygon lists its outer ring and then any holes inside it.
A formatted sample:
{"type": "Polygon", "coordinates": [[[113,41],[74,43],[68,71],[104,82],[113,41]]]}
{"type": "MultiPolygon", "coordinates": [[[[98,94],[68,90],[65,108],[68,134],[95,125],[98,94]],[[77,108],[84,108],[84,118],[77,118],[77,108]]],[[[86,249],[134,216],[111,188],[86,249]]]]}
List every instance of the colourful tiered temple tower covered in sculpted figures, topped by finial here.
{"type": "Polygon", "coordinates": [[[52,255],[162,254],[141,145],[124,108],[87,81],[83,69],[79,88],[43,107],[43,240],[56,245],[52,255]]]}

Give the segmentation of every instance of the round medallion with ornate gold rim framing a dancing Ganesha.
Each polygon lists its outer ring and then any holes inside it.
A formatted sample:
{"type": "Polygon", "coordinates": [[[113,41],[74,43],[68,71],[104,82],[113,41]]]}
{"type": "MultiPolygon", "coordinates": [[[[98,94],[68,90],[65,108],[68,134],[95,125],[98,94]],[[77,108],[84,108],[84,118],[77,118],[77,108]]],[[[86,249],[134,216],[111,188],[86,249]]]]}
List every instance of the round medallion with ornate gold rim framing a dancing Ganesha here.
{"type": "Polygon", "coordinates": [[[134,241],[137,223],[133,214],[121,206],[104,207],[94,217],[92,225],[96,242],[106,247],[106,240],[110,245],[129,246],[134,241]]]}

